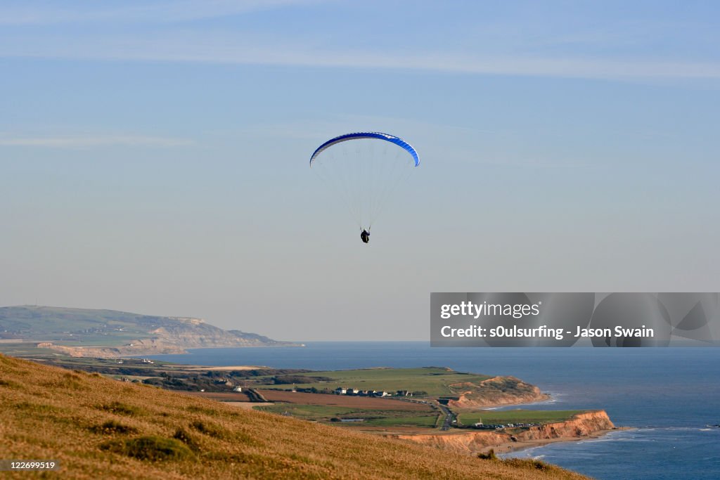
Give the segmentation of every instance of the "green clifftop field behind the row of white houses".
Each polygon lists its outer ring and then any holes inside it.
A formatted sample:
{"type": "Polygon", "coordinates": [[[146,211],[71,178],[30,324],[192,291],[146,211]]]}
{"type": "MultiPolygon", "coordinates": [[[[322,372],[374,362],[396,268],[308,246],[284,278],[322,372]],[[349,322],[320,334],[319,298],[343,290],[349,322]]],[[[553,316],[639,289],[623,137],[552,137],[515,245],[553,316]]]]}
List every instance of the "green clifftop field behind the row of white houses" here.
{"type": "MultiPolygon", "coordinates": [[[[490,376],[476,373],[461,373],[447,368],[367,368],[345,371],[314,371],[307,376],[324,376],[331,381],[312,384],[297,384],[297,388],[336,389],[338,386],[361,390],[378,390],[395,393],[397,390],[425,391],[430,397],[451,395],[455,392],[451,384],[472,382],[478,384],[490,376]]],[[[273,388],[273,387],[266,387],[273,388]]],[[[285,389],[287,386],[277,386],[285,389]]]]}

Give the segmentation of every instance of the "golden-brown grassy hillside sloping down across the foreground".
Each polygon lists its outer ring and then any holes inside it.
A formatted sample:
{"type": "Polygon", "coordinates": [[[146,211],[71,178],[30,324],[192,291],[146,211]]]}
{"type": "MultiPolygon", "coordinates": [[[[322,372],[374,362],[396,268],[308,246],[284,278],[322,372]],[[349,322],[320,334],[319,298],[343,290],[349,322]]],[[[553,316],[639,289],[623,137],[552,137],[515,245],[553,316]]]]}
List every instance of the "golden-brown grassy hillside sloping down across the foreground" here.
{"type": "Polygon", "coordinates": [[[584,478],[2,355],[0,406],[2,458],[60,461],[49,478],[584,478]]]}

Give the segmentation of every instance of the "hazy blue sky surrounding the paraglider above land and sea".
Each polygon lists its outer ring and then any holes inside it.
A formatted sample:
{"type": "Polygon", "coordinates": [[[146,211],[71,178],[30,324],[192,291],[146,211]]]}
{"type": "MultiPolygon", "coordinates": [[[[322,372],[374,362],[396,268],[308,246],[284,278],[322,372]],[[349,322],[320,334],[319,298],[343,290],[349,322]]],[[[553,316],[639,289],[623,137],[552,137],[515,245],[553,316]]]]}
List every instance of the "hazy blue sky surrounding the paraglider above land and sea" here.
{"type": "Polygon", "coordinates": [[[0,304],[426,340],[431,291],[719,291],[716,2],[0,4],[0,304]],[[361,245],[307,158],[423,164],[361,245]]]}

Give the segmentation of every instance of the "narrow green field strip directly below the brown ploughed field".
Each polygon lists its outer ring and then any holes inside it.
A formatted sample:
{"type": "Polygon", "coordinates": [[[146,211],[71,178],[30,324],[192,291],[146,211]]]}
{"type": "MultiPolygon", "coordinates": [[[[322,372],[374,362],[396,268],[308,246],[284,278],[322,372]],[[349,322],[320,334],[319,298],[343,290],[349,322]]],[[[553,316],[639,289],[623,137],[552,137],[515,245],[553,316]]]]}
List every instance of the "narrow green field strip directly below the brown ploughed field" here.
{"type": "Polygon", "coordinates": [[[364,418],[364,422],[345,423],[333,422],[338,425],[372,425],[372,426],[401,426],[410,427],[435,427],[438,415],[434,412],[411,412],[408,410],[375,410],[358,409],[351,407],[333,407],[326,405],[300,405],[300,404],[274,404],[268,407],[255,407],[263,412],[271,412],[279,415],[302,418],[303,420],[317,420],[318,422],[330,422],[336,418],[364,418]],[[416,415],[413,415],[415,413],[416,415]]]}

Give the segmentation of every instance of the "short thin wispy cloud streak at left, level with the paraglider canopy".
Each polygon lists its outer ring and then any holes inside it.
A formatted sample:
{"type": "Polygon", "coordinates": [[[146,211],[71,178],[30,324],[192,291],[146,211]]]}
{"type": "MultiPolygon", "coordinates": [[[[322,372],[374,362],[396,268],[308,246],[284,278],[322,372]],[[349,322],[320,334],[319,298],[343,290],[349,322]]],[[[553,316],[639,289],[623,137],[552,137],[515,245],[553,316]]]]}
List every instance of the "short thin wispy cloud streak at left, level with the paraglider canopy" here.
{"type": "Polygon", "coordinates": [[[148,137],[143,135],[93,135],[93,136],[13,136],[0,135],[0,147],[44,148],[92,148],[101,146],[126,147],[183,147],[194,145],[193,140],[173,137],[148,137]]]}

